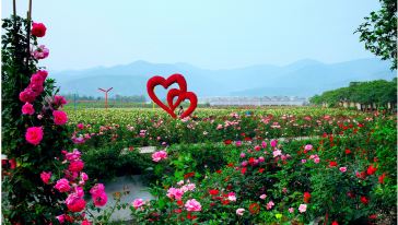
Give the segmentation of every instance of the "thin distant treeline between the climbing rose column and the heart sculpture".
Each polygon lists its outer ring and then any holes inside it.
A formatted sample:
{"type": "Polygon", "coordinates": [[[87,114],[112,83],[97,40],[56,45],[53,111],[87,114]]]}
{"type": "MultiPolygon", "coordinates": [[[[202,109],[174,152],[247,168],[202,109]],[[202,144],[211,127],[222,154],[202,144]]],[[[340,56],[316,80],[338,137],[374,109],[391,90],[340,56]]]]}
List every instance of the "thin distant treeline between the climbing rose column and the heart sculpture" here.
{"type": "MultiPolygon", "coordinates": [[[[63,95],[67,100],[74,102],[74,100],[102,100],[104,97],[94,97],[94,96],[86,96],[86,95],[79,95],[79,94],[67,94],[63,95]]],[[[112,95],[108,97],[108,100],[116,100],[119,103],[145,103],[147,98],[144,95],[132,95],[132,96],[122,96],[122,95],[112,95]]]]}

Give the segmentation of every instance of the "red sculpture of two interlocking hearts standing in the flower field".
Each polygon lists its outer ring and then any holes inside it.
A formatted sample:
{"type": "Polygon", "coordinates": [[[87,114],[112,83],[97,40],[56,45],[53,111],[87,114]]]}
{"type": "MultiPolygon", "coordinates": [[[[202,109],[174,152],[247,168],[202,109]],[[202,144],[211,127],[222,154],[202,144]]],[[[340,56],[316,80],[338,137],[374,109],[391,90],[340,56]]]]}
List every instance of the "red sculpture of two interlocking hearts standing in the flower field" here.
{"type": "Polygon", "coordinates": [[[160,107],[162,107],[167,114],[169,114],[173,118],[177,118],[174,110],[179,106],[180,103],[183,103],[185,99],[189,99],[190,105],[187,110],[185,110],[180,118],[185,118],[192,114],[192,111],[196,109],[198,104],[198,97],[194,92],[187,92],[187,82],[185,81],[185,78],[182,74],[175,73],[168,79],[164,79],[162,76],[153,76],[151,78],[147,83],[147,91],[151,99],[157,104],[160,107]],[[162,103],[159,97],[155,95],[154,88],[157,85],[162,85],[164,88],[168,88],[173,84],[178,84],[178,88],[172,88],[167,92],[167,104],[166,106],[164,103],[162,103]],[[177,97],[177,100],[174,102],[174,98],[177,97]]]}

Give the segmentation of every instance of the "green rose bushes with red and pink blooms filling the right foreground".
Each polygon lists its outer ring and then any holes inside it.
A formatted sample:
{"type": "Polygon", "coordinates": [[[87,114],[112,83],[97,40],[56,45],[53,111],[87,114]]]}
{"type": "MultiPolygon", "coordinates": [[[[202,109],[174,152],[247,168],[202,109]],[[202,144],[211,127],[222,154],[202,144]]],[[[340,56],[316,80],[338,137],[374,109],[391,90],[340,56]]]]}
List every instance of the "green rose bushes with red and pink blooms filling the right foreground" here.
{"type": "Polygon", "coordinates": [[[268,145],[226,145],[227,150],[220,150],[226,159],[220,158],[213,169],[201,170],[191,153],[198,154],[195,158],[209,157],[209,152],[198,150],[219,150],[218,144],[172,146],[168,157],[155,163],[166,168],[151,189],[156,199],[137,200],[130,208],[134,223],[393,222],[397,175],[393,165],[396,132],[390,129],[396,121],[384,115],[373,119],[370,127],[356,127],[350,119],[340,121],[342,135],[285,140],[274,145],[269,141],[268,145]],[[180,198],[178,192],[172,194],[175,189],[183,191],[180,198]],[[200,203],[199,211],[188,210],[186,204],[192,199],[200,203]],[[301,205],[306,210],[300,212],[301,205]],[[242,215],[238,209],[244,209],[242,215]]]}

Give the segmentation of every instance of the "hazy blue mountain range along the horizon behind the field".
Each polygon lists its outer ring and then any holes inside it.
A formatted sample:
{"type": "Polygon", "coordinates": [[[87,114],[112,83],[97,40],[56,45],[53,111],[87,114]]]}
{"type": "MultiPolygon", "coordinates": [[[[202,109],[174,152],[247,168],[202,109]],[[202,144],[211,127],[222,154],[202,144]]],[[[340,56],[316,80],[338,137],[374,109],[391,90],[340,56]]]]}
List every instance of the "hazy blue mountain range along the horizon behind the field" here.
{"type": "MultiPolygon", "coordinates": [[[[347,86],[351,81],[391,80],[395,71],[378,59],[359,59],[326,64],[304,59],[283,67],[257,64],[238,69],[207,70],[187,63],[150,63],[136,61],[110,68],[70,70],[50,73],[61,93],[102,96],[98,87],[114,87],[112,95],[147,95],[147,81],[153,75],[182,73],[189,91],[209,96],[302,96],[347,86]]],[[[155,90],[160,96],[165,91],[155,90]]]]}

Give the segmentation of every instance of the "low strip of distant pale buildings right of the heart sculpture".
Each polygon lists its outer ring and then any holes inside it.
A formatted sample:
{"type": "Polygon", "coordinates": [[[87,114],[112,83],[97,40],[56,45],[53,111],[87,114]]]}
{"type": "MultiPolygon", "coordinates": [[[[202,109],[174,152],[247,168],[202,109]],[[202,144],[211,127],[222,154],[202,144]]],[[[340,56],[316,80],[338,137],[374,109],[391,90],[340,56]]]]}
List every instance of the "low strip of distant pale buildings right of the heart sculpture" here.
{"type": "Polygon", "coordinates": [[[304,106],[308,104],[305,97],[206,97],[199,98],[199,104],[210,106],[304,106]]]}

